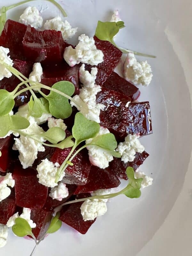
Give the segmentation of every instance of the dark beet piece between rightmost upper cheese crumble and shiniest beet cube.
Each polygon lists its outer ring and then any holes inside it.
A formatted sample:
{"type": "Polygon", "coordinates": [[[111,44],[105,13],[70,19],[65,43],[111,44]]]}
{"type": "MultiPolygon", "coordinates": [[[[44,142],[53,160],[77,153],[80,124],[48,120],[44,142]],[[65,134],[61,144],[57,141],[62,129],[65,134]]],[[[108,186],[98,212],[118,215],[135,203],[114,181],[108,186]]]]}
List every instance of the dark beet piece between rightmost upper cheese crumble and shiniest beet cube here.
{"type": "Polygon", "coordinates": [[[111,76],[109,76],[109,78],[103,84],[103,87],[123,93],[129,96],[132,101],[137,100],[140,96],[139,89],[134,84],[119,76],[116,72],[112,72],[111,76]]]}

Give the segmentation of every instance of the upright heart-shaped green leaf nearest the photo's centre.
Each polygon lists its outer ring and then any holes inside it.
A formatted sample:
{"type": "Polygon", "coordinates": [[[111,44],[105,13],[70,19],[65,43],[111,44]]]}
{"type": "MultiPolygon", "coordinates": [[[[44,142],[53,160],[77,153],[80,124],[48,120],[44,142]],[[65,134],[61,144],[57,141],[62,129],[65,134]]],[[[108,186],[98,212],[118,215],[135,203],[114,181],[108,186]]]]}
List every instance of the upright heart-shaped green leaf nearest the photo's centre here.
{"type": "Polygon", "coordinates": [[[84,140],[96,137],[99,130],[100,125],[98,123],[88,120],[80,112],[76,114],[72,128],[72,134],[76,140],[76,146],[84,140]]]}

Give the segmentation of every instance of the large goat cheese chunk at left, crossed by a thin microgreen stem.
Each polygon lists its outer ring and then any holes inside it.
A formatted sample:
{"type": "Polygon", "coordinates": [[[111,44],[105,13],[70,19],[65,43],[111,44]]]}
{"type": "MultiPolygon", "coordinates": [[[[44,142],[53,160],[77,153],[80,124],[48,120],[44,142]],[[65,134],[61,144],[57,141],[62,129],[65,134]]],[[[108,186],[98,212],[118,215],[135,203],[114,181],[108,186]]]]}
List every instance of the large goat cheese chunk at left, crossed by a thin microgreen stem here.
{"type": "MultiPolygon", "coordinates": [[[[41,134],[44,132],[44,130],[37,125],[34,117],[29,116],[28,120],[30,125],[27,129],[23,129],[22,132],[28,135],[41,134]]],[[[14,140],[15,144],[13,145],[13,150],[19,150],[19,160],[23,166],[23,169],[33,165],[34,161],[37,159],[38,151],[45,151],[45,148],[41,143],[27,136],[25,137],[21,135],[20,138],[15,138],[14,140]]],[[[39,138],[39,140],[41,142],[45,141],[42,137],[39,138]]]]}

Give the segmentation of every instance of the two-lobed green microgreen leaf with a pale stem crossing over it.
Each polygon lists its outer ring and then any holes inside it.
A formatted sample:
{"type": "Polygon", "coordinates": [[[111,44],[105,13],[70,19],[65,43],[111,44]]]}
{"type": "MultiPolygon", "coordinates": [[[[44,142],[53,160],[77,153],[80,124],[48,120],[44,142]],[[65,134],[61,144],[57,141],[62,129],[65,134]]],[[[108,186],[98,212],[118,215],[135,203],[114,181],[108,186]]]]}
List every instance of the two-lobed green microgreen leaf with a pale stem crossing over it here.
{"type": "MultiPolygon", "coordinates": [[[[53,84],[52,88],[63,92],[68,96],[72,96],[75,92],[75,86],[68,81],[57,82],[56,84],[53,84]]],[[[49,101],[49,110],[52,116],[65,119],[71,115],[72,107],[66,97],[51,91],[46,99],[49,101]]]]}

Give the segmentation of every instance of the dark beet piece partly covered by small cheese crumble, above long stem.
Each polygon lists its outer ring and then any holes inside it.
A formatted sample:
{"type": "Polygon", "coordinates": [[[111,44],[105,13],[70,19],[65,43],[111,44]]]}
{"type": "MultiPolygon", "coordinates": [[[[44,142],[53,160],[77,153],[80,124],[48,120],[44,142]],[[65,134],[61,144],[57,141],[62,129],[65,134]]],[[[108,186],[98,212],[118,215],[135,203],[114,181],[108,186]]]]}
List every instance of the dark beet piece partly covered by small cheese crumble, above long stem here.
{"type": "Polygon", "coordinates": [[[65,203],[74,194],[77,186],[67,184],[67,188],[68,188],[69,195],[68,197],[63,198],[62,201],[58,201],[57,199],[52,199],[51,196],[49,196],[49,192],[48,192],[47,200],[43,208],[45,210],[53,210],[55,207],[65,203]]]}

